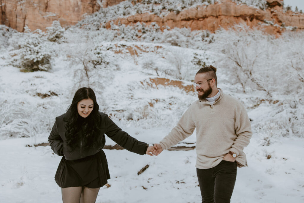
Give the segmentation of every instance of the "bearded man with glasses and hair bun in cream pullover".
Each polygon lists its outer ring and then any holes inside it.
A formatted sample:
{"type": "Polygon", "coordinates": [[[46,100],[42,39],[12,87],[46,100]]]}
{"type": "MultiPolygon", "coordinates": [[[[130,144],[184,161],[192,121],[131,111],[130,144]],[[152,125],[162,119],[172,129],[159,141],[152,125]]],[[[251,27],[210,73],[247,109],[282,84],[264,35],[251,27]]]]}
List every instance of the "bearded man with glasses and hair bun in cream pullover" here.
{"type": "Polygon", "coordinates": [[[247,166],[244,147],[251,124],[243,104],[217,88],[216,68],[201,68],[194,77],[199,100],[190,105],[178,124],[155,144],[158,155],[192,135],[196,128],[196,173],[202,203],[230,202],[237,166],[247,166]]]}

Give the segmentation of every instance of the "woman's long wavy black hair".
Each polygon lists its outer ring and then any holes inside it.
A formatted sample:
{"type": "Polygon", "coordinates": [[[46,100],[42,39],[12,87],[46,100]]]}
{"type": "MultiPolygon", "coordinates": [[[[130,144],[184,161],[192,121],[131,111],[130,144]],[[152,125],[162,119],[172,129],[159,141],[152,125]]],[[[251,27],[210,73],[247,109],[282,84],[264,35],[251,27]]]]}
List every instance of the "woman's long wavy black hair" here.
{"type": "Polygon", "coordinates": [[[68,118],[68,122],[65,125],[67,129],[65,133],[67,145],[74,148],[80,145],[80,140],[84,140],[87,148],[100,144],[99,124],[101,116],[98,110],[99,106],[96,102],[96,96],[91,88],[82,87],[76,91],[72,104],[69,106],[66,114],[68,118]],[[86,118],[81,117],[77,110],[78,102],[84,99],[93,100],[93,110],[86,118]],[[81,123],[79,121],[81,121],[81,123]]]}

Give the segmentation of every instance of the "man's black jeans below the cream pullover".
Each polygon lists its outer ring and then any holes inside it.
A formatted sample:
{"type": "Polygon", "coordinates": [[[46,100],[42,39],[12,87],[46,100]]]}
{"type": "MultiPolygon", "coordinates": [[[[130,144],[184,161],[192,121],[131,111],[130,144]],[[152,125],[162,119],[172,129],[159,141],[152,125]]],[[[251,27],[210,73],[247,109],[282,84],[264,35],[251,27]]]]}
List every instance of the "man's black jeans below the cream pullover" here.
{"type": "Polygon", "coordinates": [[[196,169],[201,189],[202,203],[230,203],[235,180],[237,163],[222,160],[210,169],[196,169]]]}

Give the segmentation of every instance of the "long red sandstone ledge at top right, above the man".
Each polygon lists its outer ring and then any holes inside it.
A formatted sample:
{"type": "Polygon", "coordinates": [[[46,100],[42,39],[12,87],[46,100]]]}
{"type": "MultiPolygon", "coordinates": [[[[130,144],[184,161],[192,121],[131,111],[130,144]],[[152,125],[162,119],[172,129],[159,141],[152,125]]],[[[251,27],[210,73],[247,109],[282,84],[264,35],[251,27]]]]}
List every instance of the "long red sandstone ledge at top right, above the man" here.
{"type": "MultiPolygon", "coordinates": [[[[271,5],[266,10],[256,9],[247,5],[237,5],[226,1],[219,4],[190,8],[180,13],[170,12],[164,18],[154,14],[143,13],[113,20],[114,24],[132,25],[156,22],[161,29],[166,26],[171,28],[191,28],[191,30],[209,30],[214,32],[220,27],[227,29],[235,24],[244,23],[250,27],[263,28],[267,33],[279,35],[287,26],[304,29],[304,15],[294,15],[293,12],[282,12],[281,1],[268,0],[271,5]]],[[[110,22],[106,24],[110,27],[110,22]]]]}

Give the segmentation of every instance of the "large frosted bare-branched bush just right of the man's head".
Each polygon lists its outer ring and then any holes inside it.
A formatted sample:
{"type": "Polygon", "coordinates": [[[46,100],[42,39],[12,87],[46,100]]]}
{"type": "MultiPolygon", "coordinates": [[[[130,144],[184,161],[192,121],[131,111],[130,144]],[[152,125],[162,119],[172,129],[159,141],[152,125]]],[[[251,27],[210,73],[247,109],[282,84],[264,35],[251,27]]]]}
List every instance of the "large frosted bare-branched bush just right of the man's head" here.
{"type": "Polygon", "coordinates": [[[211,47],[223,53],[217,64],[226,67],[231,82],[241,84],[244,92],[260,89],[271,97],[278,86],[288,92],[288,83],[283,84],[284,87],[281,84],[286,80],[282,73],[289,72],[280,57],[282,52],[278,51],[278,46],[282,47],[280,43],[280,39],[265,35],[262,30],[240,25],[234,30],[219,30],[211,47]],[[280,70],[275,77],[274,69],[280,70]]]}

